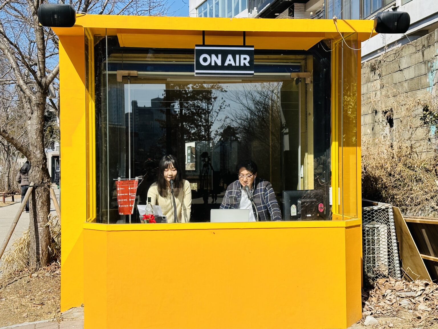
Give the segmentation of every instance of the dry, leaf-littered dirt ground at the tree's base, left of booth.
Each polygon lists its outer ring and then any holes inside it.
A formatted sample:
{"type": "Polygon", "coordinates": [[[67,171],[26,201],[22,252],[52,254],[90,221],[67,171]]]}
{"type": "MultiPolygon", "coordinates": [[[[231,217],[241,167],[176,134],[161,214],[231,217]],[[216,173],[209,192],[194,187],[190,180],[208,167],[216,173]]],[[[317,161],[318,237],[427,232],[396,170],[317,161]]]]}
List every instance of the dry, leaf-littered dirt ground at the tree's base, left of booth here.
{"type": "Polygon", "coordinates": [[[60,319],[60,268],[17,273],[0,283],[0,327],[52,318],[60,319]]]}

